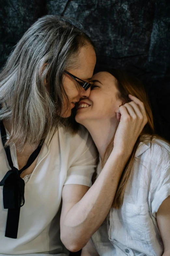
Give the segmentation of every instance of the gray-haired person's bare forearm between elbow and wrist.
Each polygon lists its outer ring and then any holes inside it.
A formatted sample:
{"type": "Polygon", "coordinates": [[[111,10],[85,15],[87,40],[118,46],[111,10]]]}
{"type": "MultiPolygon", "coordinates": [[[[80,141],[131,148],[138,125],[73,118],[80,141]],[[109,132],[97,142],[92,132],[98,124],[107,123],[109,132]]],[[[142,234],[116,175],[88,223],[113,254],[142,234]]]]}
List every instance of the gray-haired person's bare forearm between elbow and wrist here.
{"type": "Polygon", "coordinates": [[[128,158],[129,155],[112,152],[92,187],[68,211],[61,227],[61,239],[66,247],[73,245],[75,250],[84,247],[100,227],[111,208],[128,158]]]}

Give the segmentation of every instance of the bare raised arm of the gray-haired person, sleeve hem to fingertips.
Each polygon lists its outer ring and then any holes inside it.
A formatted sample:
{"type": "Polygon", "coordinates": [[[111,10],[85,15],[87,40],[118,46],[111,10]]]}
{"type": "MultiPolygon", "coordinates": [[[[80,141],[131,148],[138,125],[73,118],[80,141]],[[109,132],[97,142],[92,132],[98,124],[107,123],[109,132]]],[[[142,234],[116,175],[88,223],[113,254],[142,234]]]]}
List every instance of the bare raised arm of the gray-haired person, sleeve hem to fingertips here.
{"type": "Polygon", "coordinates": [[[106,218],[125,164],[147,123],[142,102],[133,99],[136,104],[130,102],[120,107],[113,151],[92,187],[65,185],[63,188],[61,240],[70,251],[84,247],[106,218]]]}

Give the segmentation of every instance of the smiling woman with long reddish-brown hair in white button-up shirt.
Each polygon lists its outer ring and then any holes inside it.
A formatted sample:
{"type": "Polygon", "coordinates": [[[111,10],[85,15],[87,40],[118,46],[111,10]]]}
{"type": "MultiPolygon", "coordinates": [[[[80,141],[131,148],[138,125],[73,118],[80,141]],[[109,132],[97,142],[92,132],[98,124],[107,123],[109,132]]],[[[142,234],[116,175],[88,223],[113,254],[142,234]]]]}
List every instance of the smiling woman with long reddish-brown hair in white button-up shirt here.
{"type": "Polygon", "coordinates": [[[95,255],[95,248],[101,256],[169,256],[170,145],[154,132],[145,88],[116,69],[99,72],[92,81],[90,96],[78,103],[76,121],[89,130],[98,149],[97,177],[119,140],[119,111],[134,120],[141,117],[134,96],[143,102],[148,122],[121,174],[110,212],[92,235],[93,247],[89,242],[82,255],[95,255]]]}

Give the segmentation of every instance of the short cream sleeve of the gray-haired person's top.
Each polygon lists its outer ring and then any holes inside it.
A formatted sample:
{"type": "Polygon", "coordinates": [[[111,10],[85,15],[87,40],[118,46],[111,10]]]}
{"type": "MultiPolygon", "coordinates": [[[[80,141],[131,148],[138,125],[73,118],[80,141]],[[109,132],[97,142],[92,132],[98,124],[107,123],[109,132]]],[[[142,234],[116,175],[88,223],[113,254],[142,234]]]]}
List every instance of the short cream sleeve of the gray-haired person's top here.
{"type": "Polygon", "coordinates": [[[91,187],[96,168],[97,151],[87,130],[79,132],[71,141],[67,177],[64,185],[79,184],[91,187]]]}

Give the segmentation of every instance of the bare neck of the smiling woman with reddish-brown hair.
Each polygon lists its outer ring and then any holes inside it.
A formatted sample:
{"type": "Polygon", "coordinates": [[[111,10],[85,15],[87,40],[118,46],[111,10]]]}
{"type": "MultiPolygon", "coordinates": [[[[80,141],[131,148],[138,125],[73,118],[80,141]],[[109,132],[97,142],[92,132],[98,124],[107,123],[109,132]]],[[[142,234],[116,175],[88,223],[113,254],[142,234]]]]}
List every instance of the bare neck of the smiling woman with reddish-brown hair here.
{"type": "Polygon", "coordinates": [[[92,120],[86,124],[85,127],[90,132],[101,158],[111,139],[115,136],[118,124],[115,119],[92,120]]]}

